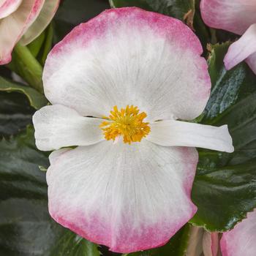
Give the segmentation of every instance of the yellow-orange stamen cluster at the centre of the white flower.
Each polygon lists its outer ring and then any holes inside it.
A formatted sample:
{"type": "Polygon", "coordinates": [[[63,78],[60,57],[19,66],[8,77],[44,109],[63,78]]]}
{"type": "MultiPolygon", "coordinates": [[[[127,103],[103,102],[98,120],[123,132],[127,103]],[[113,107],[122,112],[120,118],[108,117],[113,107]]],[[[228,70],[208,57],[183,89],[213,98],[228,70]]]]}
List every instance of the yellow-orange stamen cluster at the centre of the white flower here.
{"type": "Polygon", "coordinates": [[[146,113],[139,113],[138,107],[127,105],[127,108],[118,110],[117,106],[110,111],[110,116],[104,116],[107,121],[103,121],[100,127],[106,140],[116,140],[118,136],[123,136],[124,143],[140,142],[148,135],[150,127],[143,122],[146,113]]]}

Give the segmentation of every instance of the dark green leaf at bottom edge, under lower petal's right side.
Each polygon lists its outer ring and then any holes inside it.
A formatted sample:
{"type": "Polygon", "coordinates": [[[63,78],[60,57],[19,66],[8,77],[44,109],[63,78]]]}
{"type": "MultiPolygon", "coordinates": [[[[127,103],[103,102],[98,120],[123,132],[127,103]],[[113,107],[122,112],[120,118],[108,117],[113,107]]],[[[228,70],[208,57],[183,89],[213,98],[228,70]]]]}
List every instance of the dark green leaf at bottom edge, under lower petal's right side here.
{"type": "Polygon", "coordinates": [[[189,229],[189,225],[185,225],[162,247],[123,256],[184,256],[189,240],[189,229]]]}

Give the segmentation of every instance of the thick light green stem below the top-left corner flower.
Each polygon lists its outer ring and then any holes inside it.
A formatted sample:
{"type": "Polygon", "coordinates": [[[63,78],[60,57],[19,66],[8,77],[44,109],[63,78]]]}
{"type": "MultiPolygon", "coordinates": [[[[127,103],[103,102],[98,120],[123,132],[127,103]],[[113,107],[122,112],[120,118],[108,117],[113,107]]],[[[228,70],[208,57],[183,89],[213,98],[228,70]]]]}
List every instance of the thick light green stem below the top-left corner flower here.
{"type": "Polygon", "coordinates": [[[7,67],[18,73],[31,87],[43,94],[42,66],[34,58],[29,48],[18,43],[13,50],[12,62],[7,67]]]}

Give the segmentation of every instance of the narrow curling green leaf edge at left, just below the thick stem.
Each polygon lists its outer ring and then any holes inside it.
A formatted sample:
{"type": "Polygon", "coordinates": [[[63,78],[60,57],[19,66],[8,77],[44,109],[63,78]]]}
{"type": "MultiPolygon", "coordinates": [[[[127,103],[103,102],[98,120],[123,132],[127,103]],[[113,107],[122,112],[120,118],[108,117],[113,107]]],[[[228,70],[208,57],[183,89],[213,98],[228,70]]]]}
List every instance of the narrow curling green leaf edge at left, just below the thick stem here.
{"type": "Polygon", "coordinates": [[[12,82],[10,80],[2,78],[1,76],[0,76],[0,91],[7,91],[7,92],[17,91],[22,94],[25,94],[26,97],[29,99],[30,105],[35,109],[42,108],[48,103],[48,100],[35,89],[29,86],[22,85],[20,83],[12,82]]]}

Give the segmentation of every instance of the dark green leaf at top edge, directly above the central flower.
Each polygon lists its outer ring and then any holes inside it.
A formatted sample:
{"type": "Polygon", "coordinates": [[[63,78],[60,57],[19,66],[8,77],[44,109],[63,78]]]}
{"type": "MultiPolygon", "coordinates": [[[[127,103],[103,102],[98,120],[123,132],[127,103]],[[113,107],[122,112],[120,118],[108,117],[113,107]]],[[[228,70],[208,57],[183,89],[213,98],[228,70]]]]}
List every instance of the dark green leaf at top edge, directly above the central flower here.
{"type": "Polygon", "coordinates": [[[195,11],[195,2],[193,0],[110,0],[112,7],[140,7],[145,10],[159,12],[180,20],[192,10],[195,11]]]}

